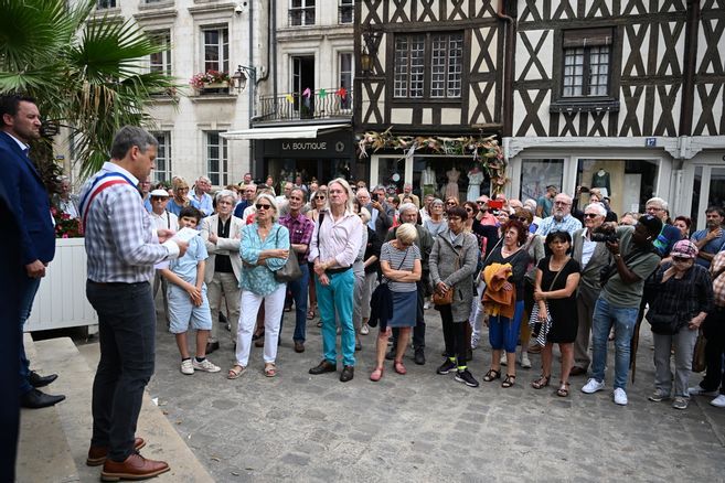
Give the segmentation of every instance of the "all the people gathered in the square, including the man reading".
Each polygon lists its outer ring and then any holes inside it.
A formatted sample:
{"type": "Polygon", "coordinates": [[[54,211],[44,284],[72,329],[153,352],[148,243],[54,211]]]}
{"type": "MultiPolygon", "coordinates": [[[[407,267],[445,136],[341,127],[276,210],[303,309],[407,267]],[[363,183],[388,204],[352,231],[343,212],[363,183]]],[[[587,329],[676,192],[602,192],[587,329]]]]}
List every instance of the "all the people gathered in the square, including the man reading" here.
{"type": "MultiPolygon", "coordinates": [[[[12,176],[33,179],[26,146],[38,138],[38,108],[19,97],[3,98],[0,107],[0,160],[12,176]]],[[[646,318],[655,366],[649,400],[671,399],[673,408],[685,409],[692,396],[704,395],[725,407],[722,207],[707,208],[706,228],[690,234],[691,221],[671,221],[662,198],[648,200],[643,214],[618,217],[594,190],[579,210],[579,190],[573,198],[555,186],[540,200],[499,194],[460,202],[434,194],[420,200],[409,184],[392,193],[382,185],[369,189],[364,181],[351,185],[337,178],[306,185],[297,179],[278,186],[277,195],[274,180],[255,183],[246,174],[238,185],[212,193],[205,176],[192,186],[181,178],[170,187],[152,186],[156,154],[152,136],[125,127],[110,161],[79,196],[62,180],[54,200],[56,208],[82,221],[85,232],[86,294],[98,313],[100,342],[87,464],[103,464],[105,479],[169,471],[167,463],[142,458],[138,450],[146,442],[135,437],[153,372],[159,288],[184,375],[221,372],[207,355],[226,350],[234,354],[226,377],[236,379],[249,366],[254,343],[264,347],[264,375],[276,377],[284,314],[292,307],[297,353],[306,351],[308,321],[319,318],[322,357],[309,374],[335,373],[341,363],[340,380],[353,379],[362,337],[377,329],[370,380],[384,377],[386,359],[405,375],[411,341],[414,363],[426,364],[424,315],[433,308],[440,314],[445,346],[438,375],[479,386],[471,351],[481,346],[486,325],[491,351],[484,383],[521,384],[516,365],[531,368],[529,354],[541,353],[541,375],[530,385],[550,386],[556,344],[561,365],[554,394],[569,396],[572,377],[585,375],[580,390],[594,394],[606,386],[607,345],[614,341],[612,398],[627,405],[646,318]],[[193,355],[189,330],[194,331],[193,355]],[[700,334],[707,369],[700,384],[690,386],[700,334]]],[[[6,184],[9,192],[17,187],[6,184]]],[[[50,210],[29,205],[39,213],[28,215],[39,219],[50,210]]],[[[21,330],[53,258],[46,249],[52,226],[38,229],[23,233],[29,242],[19,278],[21,330]]],[[[63,400],[38,389],[56,376],[31,372],[21,344],[20,363],[23,406],[63,400]]]]}

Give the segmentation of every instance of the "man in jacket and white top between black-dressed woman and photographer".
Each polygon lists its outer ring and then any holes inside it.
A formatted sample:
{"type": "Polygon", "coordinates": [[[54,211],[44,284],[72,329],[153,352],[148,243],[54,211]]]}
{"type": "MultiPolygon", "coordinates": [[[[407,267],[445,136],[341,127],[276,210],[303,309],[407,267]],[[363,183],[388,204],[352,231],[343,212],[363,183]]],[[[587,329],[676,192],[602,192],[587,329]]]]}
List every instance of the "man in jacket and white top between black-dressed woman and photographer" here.
{"type": "MultiPolygon", "coordinates": [[[[572,237],[572,258],[582,267],[582,280],[576,296],[578,330],[574,342],[574,367],[572,376],[587,373],[589,357],[589,335],[594,305],[601,291],[599,272],[609,266],[610,256],[599,233],[607,216],[607,210],[600,203],[590,203],[584,208],[584,228],[574,232],[572,237]]],[[[606,236],[606,235],[605,235],[606,236]]]]}

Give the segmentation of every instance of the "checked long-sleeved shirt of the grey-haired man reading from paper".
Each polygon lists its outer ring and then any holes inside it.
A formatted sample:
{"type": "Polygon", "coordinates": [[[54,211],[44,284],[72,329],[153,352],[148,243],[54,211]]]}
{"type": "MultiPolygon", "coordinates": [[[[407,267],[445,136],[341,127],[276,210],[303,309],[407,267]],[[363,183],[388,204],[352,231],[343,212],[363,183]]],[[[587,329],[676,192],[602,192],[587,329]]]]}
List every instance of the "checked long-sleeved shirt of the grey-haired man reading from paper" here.
{"type": "Polygon", "coordinates": [[[106,162],[81,191],[88,279],[95,282],[148,281],[153,277],[154,264],[179,256],[179,246],[174,242],[158,244],[154,224],[143,207],[137,184],[138,180],[131,173],[116,163],[106,162]],[[98,191],[103,183],[96,183],[96,180],[102,176],[128,182],[98,191]],[[93,193],[88,195],[92,190],[95,197],[93,193]]]}

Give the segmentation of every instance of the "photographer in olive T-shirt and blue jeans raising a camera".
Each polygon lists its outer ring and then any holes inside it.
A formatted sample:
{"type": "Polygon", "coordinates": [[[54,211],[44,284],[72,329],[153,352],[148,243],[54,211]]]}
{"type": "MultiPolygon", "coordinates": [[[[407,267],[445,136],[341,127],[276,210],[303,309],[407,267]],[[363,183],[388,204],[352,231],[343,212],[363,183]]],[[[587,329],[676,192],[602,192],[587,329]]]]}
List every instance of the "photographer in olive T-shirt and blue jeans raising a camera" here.
{"type": "MultiPolygon", "coordinates": [[[[662,230],[662,221],[657,216],[642,215],[637,225],[607,224],[609,232],[606,246],[614,262],[601,270],[601,293],[594,309],[591,326],[591,378],[582,388],[594,394],[605,388],[607,364],[607,337],[615,328],[615,404],[627,405],[627,376],[630,362],[630,343],[642,300],[644,280],[657,269],[660,255],[652,242],[662,230]]],[[[601,239],[601,238],[600,238],[601,239]]]]}

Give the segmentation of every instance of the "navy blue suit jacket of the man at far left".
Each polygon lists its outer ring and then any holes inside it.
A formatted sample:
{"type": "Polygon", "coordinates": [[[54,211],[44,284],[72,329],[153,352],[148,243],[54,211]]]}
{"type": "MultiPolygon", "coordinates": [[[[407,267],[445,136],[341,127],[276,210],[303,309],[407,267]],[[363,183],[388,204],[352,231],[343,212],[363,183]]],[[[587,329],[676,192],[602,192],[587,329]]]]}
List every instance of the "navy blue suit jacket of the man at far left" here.
{"type": "Polygon", "coordinates": [[[15,140],[0,131],[0,183],[21,219],[22,264],[50,262],[55,256],[51,204],[38,170],[15,140]]]}

